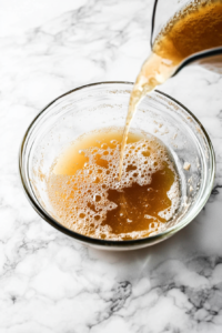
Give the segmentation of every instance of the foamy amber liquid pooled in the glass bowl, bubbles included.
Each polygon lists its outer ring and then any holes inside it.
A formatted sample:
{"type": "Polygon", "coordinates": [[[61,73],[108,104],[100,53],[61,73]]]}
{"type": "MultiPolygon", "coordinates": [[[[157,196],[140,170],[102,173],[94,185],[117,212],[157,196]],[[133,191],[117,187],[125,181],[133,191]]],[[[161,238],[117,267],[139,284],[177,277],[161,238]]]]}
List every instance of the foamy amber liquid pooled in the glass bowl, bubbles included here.
{"type": "Polygon", "coordinates": [[[154,137],[130,134],[118,180],[121,135],[83,135],[56,161],[48,193],[67,228],[98,239],[139,239],[160,231],[178,209],[174,163],[154,137]]]}

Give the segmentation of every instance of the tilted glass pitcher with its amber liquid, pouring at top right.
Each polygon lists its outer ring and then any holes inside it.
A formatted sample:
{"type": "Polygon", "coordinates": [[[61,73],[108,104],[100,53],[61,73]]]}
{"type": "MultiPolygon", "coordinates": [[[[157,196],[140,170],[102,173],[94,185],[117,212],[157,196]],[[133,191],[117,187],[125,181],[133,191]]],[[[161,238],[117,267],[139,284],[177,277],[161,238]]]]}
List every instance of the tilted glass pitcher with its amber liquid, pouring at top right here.
{"type": "MultiPolygon", "coordinates": [[[[179,3],[175,0],[154,0],[150,43],[154,52],[155,49],[161,50],[168,47],[171,53],[174,50],[174,53],[179,54],[172,77],[192,63],[222,74],[222,1],[182,1],[181,4],[181,1],[179,3]],[[159,17],[164,18],[164,21],[160,21],[159,17]],[[193,22],[196,22],[195,26],[193,22]],[[158,43],[161,44],[160,36],[164,37],[163,42],[161,41],[162,46],[157,48],[158,43]]],[[[162,52],[162,54],[165,56],[168,52],[162,52]]]]}

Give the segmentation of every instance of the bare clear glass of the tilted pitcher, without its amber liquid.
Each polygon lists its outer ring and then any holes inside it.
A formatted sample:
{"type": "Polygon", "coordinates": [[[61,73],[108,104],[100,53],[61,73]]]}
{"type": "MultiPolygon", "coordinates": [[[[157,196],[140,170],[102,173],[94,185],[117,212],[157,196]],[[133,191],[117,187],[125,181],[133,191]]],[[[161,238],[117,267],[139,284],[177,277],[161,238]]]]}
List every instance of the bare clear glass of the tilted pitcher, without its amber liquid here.
{"type": "MultiPolygon", "coordinates": [[[[153,48],[155,38],[161,32],[161,30],[167,26],[167,22],[183,7],[192,2],[196,3],[201,1],[154,0],[152,21],[151,21],[151,38],[150,38],[151,49],[153,48]]],[[[211,71],[222,74],[222,40],[221,40],[221,47],[202,50],[201,52],[193,53],[192,56],[185,58],[176,68],[173,75],[175,75],[185,65],[191,63],[201,64],[202,67],[211,71]]]]}

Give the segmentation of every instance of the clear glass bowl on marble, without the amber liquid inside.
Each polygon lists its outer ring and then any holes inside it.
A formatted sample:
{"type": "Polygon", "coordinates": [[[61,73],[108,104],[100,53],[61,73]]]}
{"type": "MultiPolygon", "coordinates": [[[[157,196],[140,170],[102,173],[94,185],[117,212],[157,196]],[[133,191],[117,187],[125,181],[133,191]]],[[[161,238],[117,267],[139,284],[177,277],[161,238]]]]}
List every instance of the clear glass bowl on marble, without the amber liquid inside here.
{"type": "Polygon", "coordinates": [[[131,130],[155,135],[174,159],[181,178],[182,199],[173,219],[158,234],[139,240],[110,241],[73,232],[52,218],[54,214],[50,213],[52,206],[46,190],[46,178],[54,159],[83,133],[103,128],[123,128],[132,87],[130,82],[101,82],[64,93],[32,121],[19,154],[23,189],[39,215],[67,235],[104,250],[140,249],[173,235],[204,206],[214,180],[214,151],[200,121],[171,97],[154,91],[140,103],[131,130]]]}

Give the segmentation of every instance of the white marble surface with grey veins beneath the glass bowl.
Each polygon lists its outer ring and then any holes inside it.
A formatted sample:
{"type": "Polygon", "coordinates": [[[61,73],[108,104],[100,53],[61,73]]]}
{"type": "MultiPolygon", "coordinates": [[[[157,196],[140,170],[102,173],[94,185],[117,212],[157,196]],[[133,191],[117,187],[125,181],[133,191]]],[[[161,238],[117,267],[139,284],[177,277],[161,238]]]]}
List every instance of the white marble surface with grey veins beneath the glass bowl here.
{"type": "Polygon", "coordinates": [[[152,0],[1,0],[0,332],[222,332],[222,77],[188,68],[161,90],[213,141],[216,180],[199,216],[160,245],[109,253],[59,233],[29,205],[18,150],[32,118],[78,85],[135,79],[152,0]]]}

